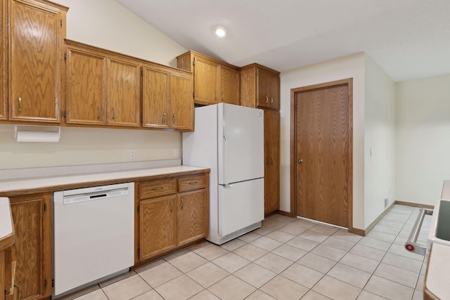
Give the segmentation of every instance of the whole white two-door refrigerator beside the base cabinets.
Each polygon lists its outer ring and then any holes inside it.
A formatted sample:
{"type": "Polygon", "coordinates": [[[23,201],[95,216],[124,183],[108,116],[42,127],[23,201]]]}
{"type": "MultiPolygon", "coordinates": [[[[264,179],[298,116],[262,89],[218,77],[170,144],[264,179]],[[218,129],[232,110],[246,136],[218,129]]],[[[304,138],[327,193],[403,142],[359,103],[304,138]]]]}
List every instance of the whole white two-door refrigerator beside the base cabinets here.
{"type": "Polygon", "coordinates": [[[219,103],[195,108],[194,131],[183,133],[183,164],[210,172],[210,231],[223,244],[264,219],[264,112],[219,103]]]}

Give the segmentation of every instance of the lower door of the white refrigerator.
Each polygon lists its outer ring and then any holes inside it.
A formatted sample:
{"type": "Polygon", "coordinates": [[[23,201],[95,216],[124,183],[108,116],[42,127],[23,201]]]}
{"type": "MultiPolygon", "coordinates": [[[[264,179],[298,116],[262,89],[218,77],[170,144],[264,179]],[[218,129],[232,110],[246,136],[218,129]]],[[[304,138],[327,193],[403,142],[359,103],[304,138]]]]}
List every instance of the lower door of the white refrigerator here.
{"type": "Polygon", "coordinates": [[[264,178],[219,185],[219,235],[229,235],[263,219],[264,178]]]}

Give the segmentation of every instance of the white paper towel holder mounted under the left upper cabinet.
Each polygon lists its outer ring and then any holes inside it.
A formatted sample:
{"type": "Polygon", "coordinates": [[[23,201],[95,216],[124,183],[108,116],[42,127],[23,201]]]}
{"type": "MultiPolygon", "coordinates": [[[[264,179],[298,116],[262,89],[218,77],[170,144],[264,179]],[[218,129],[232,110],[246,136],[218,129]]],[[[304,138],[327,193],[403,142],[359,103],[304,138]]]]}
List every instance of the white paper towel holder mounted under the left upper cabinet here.
{"type": "Polygon", "coordinates": [[[15,125],[14,137],[17,142],[57,143],[61,136],[60,126],[15,125]],[[57,130],[54,130],[57,129],[57,130]]]}

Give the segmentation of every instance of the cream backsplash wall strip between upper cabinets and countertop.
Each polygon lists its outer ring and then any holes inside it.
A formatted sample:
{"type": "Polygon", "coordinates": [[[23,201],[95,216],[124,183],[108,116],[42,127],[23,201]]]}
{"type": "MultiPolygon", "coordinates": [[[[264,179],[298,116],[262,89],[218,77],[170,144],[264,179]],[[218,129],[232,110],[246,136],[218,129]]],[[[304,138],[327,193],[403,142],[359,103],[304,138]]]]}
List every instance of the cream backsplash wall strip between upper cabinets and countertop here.
{"type": "Polygon", "coordinates": [[[18,143],[14,126],[0,125],[0,141],[0,169],[181,158],[181,133],[176,131],[63,127],[58,143],[18,143]]]}

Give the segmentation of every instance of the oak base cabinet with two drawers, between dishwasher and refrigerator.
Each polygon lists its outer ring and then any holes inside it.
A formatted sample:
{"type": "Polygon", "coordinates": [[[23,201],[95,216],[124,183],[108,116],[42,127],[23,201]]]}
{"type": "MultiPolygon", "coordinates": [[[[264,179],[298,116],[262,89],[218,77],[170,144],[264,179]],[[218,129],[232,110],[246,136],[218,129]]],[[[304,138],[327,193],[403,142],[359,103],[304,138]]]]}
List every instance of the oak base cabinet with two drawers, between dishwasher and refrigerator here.
{"type": "Polygon", "coordinates": [[[208,173],[136,182],[135,263],[208,233],[208,173]]]}

